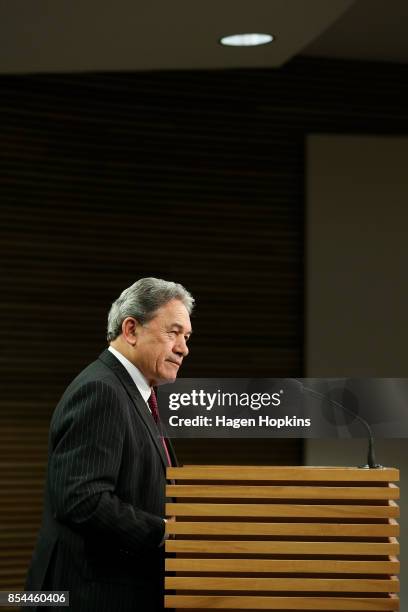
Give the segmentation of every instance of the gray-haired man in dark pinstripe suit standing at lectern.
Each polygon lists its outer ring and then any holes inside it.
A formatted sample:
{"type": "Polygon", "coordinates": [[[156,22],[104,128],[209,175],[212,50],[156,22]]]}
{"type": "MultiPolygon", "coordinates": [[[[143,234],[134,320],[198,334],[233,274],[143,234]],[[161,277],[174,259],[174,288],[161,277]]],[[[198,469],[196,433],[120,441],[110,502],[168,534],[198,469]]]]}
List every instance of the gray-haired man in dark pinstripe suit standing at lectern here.
{"type": "Polygon", "coordinates": [[[153,387],[174,381],[188,355],[193,305],[184,287],[155,278],[112,304],[109,348],[51,420],[26,590],[69,591],[74,612],[163,609],[165,469],[175,458],[153,387]]]}

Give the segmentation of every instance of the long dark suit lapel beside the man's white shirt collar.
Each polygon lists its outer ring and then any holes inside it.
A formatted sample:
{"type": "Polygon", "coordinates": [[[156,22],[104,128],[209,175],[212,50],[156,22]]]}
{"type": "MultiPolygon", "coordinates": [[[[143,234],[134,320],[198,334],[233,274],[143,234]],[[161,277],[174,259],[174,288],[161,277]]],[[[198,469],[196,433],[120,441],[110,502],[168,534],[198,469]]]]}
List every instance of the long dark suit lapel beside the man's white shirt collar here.
{"type": "MultiPolygon", "coordinates": [[[[148,409],[144,399],[140,395],[139,389],[133,382],[126,368],[116,359],[116,357],[106,349],[99,355],[99,359],[110,368],[114,374],[118,377],[122,385],[125,387],[127,394],[132,400],[139,416],[147,427],[147,430],[156,446],[156,449],[160,455],[164,469],[167,467],[167,457],[164,451],[163,443],[159,435],[159,430],[154,422],[154,419],[148,409]]],[[[174,449],[172,449],[174,454],[174,449]]]]}

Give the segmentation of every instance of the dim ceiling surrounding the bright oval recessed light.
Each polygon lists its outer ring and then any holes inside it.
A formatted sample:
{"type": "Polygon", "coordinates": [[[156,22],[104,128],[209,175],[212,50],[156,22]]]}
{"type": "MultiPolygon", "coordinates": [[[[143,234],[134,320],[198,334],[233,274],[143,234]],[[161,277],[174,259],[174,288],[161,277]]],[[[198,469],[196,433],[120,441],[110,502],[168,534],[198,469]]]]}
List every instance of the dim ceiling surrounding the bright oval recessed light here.
{"type": "Polygon", "coordinates": [[[298,54],[408,62],[407,0],[0,0],[0,73],[278,67],[298,54]],[[256,48],[221,36],[269,32],[256,48]]]}

